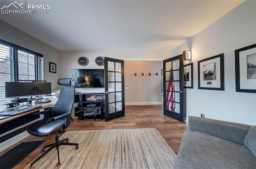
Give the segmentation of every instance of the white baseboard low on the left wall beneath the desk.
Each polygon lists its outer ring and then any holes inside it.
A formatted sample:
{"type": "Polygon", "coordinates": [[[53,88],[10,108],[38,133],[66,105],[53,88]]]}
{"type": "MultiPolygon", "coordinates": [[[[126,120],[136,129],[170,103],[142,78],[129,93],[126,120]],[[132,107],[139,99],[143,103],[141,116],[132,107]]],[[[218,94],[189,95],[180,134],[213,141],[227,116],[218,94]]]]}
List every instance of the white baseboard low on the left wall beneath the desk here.
{"type": "Polygon", "coordinates": [[[24,131],[2,143],[0,143],[0,151],[3,151],[4,149],[10,147],[11,145],[14,145],[15,143],[21,141],[22,139],[30,136],[30,134],[27,131],[24,131]]]}

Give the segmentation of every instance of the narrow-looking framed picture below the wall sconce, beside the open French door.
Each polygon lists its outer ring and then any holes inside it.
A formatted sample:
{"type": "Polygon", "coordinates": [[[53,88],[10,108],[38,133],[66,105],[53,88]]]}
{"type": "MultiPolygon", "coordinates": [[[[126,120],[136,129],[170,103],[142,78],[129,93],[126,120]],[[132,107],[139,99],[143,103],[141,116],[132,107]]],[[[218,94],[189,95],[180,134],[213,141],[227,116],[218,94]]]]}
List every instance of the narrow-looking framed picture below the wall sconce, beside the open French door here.
{"type": "Polygon", "coordinates": [[[184,65],[184,88],[193,88],[193,63],[184,65]]]}

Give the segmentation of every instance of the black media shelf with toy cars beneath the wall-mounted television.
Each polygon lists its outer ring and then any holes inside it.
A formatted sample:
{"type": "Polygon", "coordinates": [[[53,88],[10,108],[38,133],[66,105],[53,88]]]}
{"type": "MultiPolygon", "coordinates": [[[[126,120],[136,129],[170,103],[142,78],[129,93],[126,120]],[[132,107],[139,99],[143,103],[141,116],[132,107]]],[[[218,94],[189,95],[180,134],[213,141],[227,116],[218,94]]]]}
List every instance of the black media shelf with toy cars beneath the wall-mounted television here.
{"type": "Polygon", "coordinates": [[[75,109],[75,116],[81,120],[85,118],[102,118],[105,116],[105,94],[104,93],[76,93],[75,103],[78,103],[75,109]],[[98,114],[95,114],[96,110],[98,114]]]}

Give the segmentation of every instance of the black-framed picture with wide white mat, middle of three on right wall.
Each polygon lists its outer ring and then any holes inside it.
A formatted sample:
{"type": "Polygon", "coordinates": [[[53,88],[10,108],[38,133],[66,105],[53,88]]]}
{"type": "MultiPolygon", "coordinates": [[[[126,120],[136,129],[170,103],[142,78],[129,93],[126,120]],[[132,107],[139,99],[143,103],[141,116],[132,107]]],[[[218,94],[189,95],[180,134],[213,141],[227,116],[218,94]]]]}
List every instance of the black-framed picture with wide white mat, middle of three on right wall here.
{"type": "Polygon", "coordinates": [[[198,61],[198,89],[224,90],[224,53],[198,61]]]}

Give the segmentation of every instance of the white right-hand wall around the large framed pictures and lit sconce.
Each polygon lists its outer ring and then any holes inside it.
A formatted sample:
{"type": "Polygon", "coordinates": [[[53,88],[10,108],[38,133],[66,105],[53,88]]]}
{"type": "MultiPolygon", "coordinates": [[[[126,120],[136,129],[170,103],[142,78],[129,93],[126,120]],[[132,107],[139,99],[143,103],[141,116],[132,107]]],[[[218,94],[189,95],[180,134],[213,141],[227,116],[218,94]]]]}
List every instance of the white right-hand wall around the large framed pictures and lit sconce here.
{"type": "Polygon", "coordinates": [[[247,0],[172,51],[174,57],[192,50],[194,88],[186,89],[186,118],[203,113],[206,118],[256,125],[256,94],[236,92],[234,59],[234,50],[254,43],[256,1],[247,0]],[[225,90],[198,89],[198,61],[221,53],[225,90]]]}

